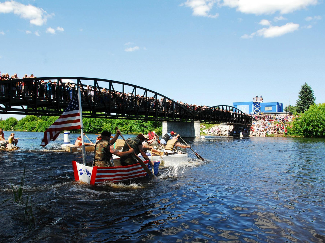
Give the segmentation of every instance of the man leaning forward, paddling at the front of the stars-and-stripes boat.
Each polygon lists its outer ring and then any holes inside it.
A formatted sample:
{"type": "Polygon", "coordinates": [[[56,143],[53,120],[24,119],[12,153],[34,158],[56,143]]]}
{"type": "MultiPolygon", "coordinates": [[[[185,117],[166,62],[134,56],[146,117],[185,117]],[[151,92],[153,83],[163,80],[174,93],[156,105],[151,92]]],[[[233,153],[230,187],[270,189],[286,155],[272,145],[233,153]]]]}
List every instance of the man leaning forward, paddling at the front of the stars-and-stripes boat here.
{"type": "MultiPolygon", "coordinates": [[[[131,149],[134,150],[135,154],[141,154],[145,160],[149,160],[148,155],[146,155],[145,151],[143,150],[142,147],[142,142],[145,141],[146,138],[142,135],[139,134],[136,137],[130,137],[126,139],[126,142],[130,145],[131,149]]],[[[129,151],[129,146],[125,143],[123,146],[123,152],[129,151]]],[[[125,157],[122,157],[120,159],[121,165],[131,165],[131,164],[136,164],[138,163],[138,160],[136,158],[134,153],[130,153],[125,157]]],[[[149,160],[149,162],[151,162],[149,160]]],[[[151,162],[151,165],[153,165],[153,162],[151,162]]]]}

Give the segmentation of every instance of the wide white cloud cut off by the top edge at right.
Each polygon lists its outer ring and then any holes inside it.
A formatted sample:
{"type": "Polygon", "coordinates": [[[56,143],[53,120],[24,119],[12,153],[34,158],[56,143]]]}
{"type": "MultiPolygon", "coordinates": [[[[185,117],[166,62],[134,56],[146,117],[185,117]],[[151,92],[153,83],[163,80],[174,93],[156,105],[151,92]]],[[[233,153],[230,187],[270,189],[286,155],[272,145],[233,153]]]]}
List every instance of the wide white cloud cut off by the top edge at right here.
{"type": "Polygon", "coordinates": [[[237,11],[246,14],[287,14],[316,5],[318,0],[218,0],[220,6],[236,8],[237,11]]]}

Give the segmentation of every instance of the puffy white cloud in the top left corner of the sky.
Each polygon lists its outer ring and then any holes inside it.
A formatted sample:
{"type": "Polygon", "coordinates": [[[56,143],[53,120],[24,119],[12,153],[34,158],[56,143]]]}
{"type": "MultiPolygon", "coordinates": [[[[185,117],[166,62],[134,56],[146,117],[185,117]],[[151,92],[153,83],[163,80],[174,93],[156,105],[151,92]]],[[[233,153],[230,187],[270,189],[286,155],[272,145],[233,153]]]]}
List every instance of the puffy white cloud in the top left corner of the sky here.
{"type": "Polygon", "coordinates": [[[0,13],[13,13],[22,19],[28,19],[33,25],[41,26],[46,23],[47,18],[51,17],[43,8],[32,5],[24,5],[16,1],[6,1],[0,3],[0,13]]]}

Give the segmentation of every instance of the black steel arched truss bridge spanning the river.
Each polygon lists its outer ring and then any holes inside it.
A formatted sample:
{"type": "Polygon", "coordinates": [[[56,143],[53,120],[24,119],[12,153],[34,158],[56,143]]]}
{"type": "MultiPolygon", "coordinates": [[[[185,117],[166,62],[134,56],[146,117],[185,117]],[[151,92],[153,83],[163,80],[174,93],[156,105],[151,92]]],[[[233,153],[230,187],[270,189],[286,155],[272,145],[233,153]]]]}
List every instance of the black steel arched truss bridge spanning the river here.
{"type": "Polygon", "coordinates": [[[85,77],[40,77],[1,81],[0,113],[59,116],[81,87],[83,117],[220,124],[251,124],[230,106],[184,106],[137,85],[85,77]],[[49,83],[49,81],[52,81],[49,83]],[[56,81],[56,83],[53,83],[56,81]],[[75,87],[66,85],[75,83],[75,87]],[[87,86],[93,87],[88,89],[87,86]],[[105,88],[105,89],[104,89],[105,88]]]}

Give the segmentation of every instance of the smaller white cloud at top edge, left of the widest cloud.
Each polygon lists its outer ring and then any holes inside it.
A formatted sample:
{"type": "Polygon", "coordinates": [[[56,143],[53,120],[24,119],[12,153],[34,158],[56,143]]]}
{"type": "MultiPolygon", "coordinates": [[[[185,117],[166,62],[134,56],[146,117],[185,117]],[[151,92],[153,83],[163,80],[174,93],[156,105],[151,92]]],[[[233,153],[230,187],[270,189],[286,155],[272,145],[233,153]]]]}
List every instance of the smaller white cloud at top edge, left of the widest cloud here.
{"type": "Polygon", "coordinates": [[[180,6],[190,7],[193,16],[217,18],[219,14],[209,14],[215,3],[220,0],[187,0],[180,6]]]}

